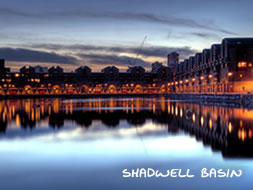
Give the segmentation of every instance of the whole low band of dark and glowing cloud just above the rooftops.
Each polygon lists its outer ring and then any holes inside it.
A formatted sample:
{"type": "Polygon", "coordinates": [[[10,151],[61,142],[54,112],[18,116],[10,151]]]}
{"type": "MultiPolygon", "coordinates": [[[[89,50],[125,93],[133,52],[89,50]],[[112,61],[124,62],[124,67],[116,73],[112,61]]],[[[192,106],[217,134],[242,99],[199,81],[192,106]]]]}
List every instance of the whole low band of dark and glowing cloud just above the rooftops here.
{"type": "Polygon", "coordinates": [[[143,48],[140,56],[136,58],[136,52],[139,50],[138,47],[80,44],[33,44],[20,46],[23,46],[23,48],[0,48],[1,58],[6,59],[8,62],[16,62],[15,68],[18,68],[21,62],[56,63],[61,64],[61,66],[65,65],[64,67],[85,64],[95,70],[98,67],[102,68],[107,65],[115,65],[121,69],[125,69],[133,63],[144,68],[150,68],[150,64],[153,61],[166,60],[170,52],[177,51],[181,59],[186,59],[197,52],[190,47],[149,46],[143,48]],[[49,51],[52,52],[49,53],[49,51]]]}

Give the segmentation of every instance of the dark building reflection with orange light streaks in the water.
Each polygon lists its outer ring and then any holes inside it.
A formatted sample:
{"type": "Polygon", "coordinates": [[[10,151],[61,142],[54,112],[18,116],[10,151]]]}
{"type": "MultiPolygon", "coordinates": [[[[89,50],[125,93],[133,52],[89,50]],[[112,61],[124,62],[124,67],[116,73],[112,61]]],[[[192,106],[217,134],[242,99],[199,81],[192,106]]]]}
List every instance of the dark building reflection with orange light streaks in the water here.
{"type": "MultiPolygon", "coordinates": [[[[224,157],[253,157],[253,110],[171,102],[165,98],[23,99],[0,101],[0,133],[9,128],[36,130],[74,121],[88,128],[95,120],[117,127],[121,120],[141,127],[145,121],[168,126],[168,133],[195,136],[224,157]]],[[[7,134],[6,134],[7,135],[7,134]]]]}

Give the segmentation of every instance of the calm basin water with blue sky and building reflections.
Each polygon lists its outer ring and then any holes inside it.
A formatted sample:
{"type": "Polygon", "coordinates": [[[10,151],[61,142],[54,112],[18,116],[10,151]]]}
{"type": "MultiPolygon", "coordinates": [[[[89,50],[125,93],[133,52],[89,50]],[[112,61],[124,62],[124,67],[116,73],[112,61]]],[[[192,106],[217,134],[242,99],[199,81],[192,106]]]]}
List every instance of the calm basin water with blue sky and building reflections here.
{"type": "Polygon", "coordinates": [[[251,189],[253,110],[164,98],[0,101],[0,189],[251,189]],[[123,178],[190,169],[194,178],[123,178]],[[242,170],[202,178],[202,168],[242,170]]]}

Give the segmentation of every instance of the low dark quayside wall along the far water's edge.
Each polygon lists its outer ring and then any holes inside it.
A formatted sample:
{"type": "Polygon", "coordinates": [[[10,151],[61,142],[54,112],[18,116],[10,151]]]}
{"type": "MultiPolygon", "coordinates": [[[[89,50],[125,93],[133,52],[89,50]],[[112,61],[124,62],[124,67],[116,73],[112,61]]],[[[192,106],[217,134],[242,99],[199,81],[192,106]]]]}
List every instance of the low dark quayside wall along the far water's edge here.
{"type": "Polygon", "coordinates": [[[182,101],[197,104],[243,107],[253,109],[253,94],[19,94],[19,95],[1,95],[0,99],[29,99],[29,98],[157,98],[165,97],[171,101],[182,101]]]}

